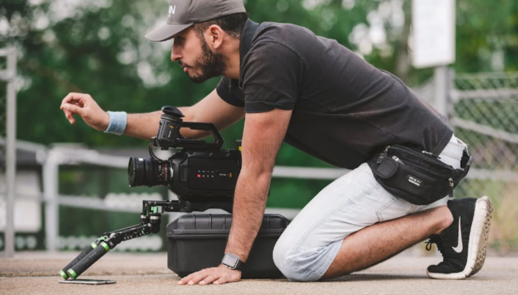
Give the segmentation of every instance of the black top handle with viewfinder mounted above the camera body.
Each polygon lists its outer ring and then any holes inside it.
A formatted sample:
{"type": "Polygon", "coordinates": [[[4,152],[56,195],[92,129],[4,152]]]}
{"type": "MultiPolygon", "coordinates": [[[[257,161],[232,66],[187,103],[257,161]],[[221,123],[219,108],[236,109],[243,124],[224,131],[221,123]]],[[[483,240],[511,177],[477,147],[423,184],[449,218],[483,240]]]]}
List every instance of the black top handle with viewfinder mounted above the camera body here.
{"type": "Polygon", "coordinates": [[[185,117],[177,107],[165,105],[162,107],[164,114],[161,116],[159,131],[155,137],[151,138],[154,147],[186,148],[186,149],[216,149],[223,146],[223,137],[212,123],[183,122],[185,117]],[[213,143],[207,143],[201,139],[183,138],[180,128],[191,128],[193,130],[209,131],[214,137],[213,143]]]}

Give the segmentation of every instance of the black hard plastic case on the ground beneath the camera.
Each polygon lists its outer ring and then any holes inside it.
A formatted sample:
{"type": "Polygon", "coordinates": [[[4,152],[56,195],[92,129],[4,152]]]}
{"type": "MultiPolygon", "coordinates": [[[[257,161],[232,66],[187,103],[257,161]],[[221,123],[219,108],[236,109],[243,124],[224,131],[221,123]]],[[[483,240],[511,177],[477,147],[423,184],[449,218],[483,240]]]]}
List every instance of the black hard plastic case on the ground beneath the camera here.
{"type": "MultiPolygon", "coordinates": [[[[272,258],[275,243],[290,223],[284,216],[265,214],[242,278],[278,278],[282,273],[272,258]]],[[[167,225],[167,267],[180,277],[221,264],[231,214],[182,215],[167,225]]]]}

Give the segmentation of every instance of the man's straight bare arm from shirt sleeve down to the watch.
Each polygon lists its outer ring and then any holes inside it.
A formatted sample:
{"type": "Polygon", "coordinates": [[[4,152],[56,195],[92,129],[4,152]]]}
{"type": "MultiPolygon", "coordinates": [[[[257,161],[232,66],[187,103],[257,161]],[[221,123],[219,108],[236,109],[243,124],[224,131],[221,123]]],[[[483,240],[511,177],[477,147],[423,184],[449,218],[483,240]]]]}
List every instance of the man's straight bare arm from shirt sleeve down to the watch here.
{"type": "Polygon", "coordinates": [[[243,261],[248,259],[261,227],[271,173],[291,113],[275,109],[247,114],[245,118],[241,147],[243,164],[236,185],[232,228],[225,250],[243,261]]]}

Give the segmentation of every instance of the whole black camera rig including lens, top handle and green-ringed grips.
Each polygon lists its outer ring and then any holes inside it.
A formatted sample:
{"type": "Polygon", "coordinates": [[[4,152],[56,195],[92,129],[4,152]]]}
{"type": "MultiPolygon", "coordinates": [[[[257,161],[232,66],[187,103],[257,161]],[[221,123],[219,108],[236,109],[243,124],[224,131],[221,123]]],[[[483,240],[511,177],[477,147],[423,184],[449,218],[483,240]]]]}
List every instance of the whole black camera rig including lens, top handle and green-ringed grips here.
{"type": "Polygon", "coordinates": [[[75,280],[122,241],[158,233],[164,212],[190,213],[215,208],[232,213],[241,169],[240,141],[238,149],[222,149],[223,137],[212,123],[183,122],[184,115],[173,106],[164,106],[162,111],[159,131],[149,145],[151,158],[130,159],[128,185],[167,185],[178,200],[143,200],[140,223],[102,234],[59,272],[65,280],[75,280]],[[184,138],[180,128],[209,131],[214,142],[184,138]],[[179,151],[168,160],[161,160],[154,155],[153,147],[179,151]]]}

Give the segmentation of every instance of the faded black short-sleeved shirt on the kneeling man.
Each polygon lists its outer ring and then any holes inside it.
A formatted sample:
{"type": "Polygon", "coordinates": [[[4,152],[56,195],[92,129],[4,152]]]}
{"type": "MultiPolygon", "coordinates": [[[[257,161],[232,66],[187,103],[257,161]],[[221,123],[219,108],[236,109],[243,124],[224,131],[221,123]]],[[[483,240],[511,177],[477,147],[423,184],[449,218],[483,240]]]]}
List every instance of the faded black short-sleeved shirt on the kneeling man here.
{"type": "Polygon", "coordinates": [[[354,169],[390,144],[439,154],[453,135],[396,76],[306,28],[249,20],[240,60],[218,95],[247,113],[293,110],[284,141],[330,164],[354,169]]]}

